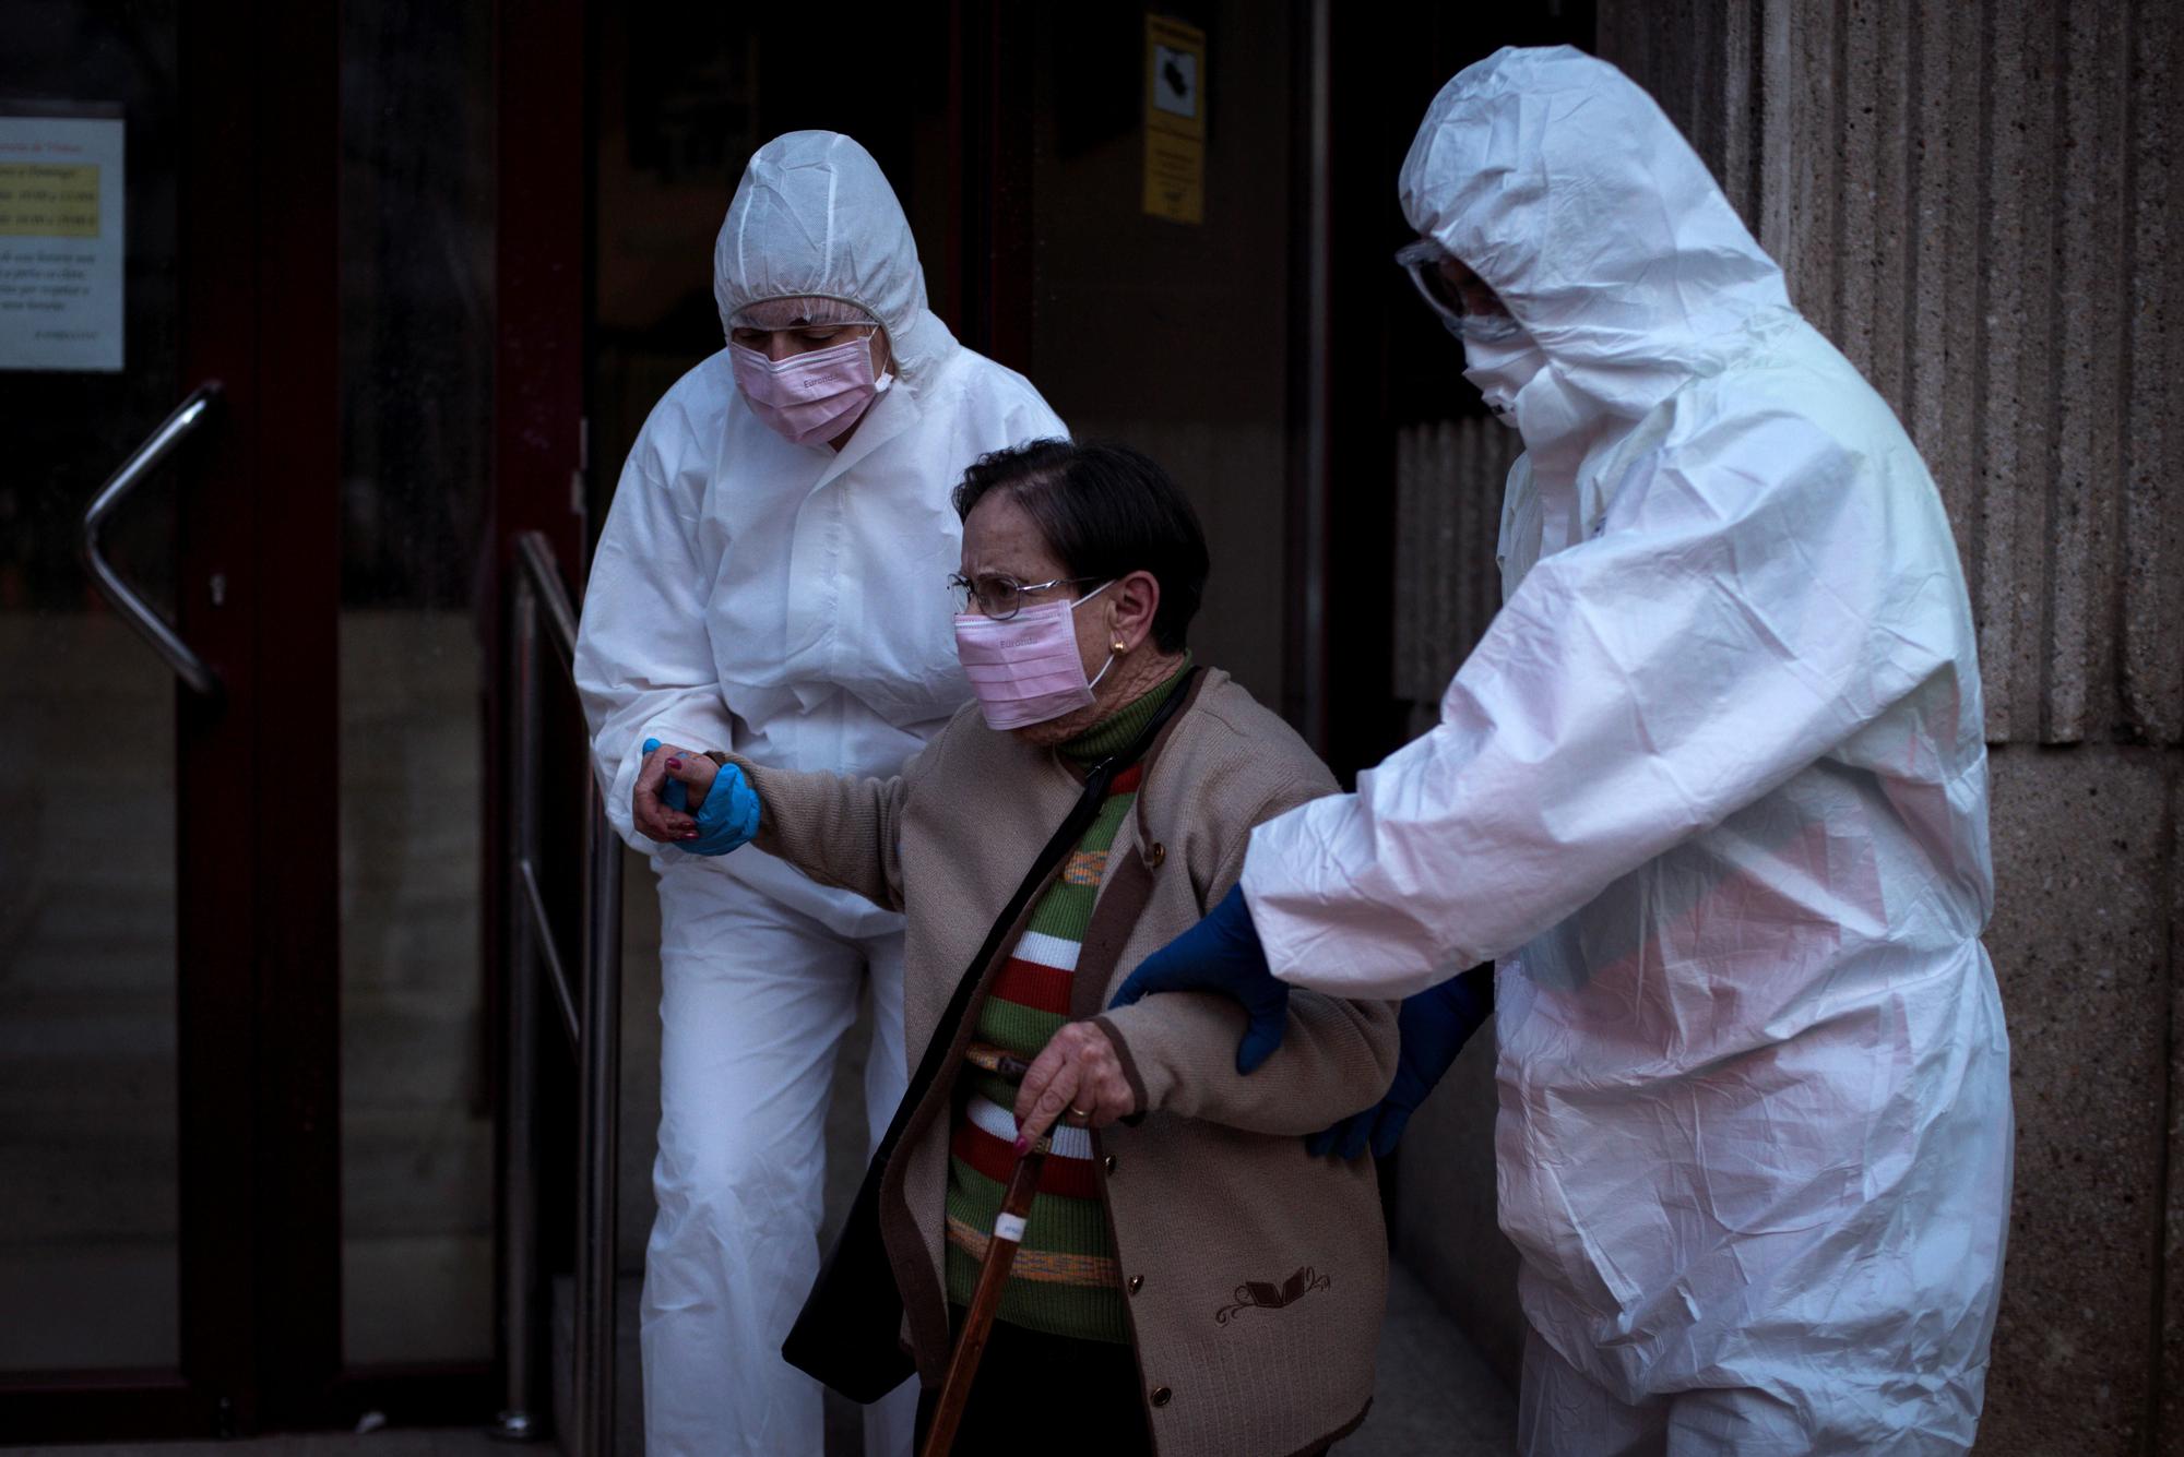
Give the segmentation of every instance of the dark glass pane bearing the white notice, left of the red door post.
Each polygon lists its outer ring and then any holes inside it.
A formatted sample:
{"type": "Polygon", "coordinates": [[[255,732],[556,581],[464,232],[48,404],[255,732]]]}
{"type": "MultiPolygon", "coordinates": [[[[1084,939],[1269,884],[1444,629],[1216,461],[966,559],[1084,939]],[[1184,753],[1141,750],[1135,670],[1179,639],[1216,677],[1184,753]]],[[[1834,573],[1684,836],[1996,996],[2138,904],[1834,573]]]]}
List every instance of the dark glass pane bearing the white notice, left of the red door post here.
{"type": "MultiPolygon", "coordinates": [[[[33,9],[0,55],[9,1374],[181,1365],[175,672],[81,561],[92,493],[188,393],[179,57],[173,7],[135,7],[120,24],[96,9],[33,9]],[[111,776],[92,787],[98,744],[114,748],[111,776]]],[[[155,473],[105,532],[107,558],[168,622],[175,521],[173,478],[155,473]]]]}

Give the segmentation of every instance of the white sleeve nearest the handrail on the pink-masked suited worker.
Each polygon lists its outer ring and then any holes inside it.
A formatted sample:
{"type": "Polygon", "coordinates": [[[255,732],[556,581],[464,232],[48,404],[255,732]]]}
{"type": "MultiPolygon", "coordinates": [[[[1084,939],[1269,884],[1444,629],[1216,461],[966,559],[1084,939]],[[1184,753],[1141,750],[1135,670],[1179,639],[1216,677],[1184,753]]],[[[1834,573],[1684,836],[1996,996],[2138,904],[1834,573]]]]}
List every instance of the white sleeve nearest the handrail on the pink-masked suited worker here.
{"type": "Polygon", "coordinates": [[[646,421],[614,491],[583,593],[577,694],[592,728],[592,770],[607,822],[640,851],[679,855],[631,827],[629,796],[644,766],[644,739],[699,750],[734,744],[705,630],[712,571],[697,547],[705,478],[673,465],[686,451],[662,449],[657,434],[673,428],[681,428],[673,406],[646,421]]]}

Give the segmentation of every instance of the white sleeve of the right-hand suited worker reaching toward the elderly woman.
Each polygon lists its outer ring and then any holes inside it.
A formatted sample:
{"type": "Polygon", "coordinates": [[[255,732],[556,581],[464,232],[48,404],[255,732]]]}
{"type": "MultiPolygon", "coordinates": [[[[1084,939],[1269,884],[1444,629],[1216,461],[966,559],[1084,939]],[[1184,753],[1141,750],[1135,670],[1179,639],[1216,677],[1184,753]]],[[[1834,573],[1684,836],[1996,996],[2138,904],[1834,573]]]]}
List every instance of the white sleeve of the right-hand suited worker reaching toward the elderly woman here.
{"type": "Polygon", "coordinates": [[[1948,672],[1961,602],[1915,458],[1771,412],[1655,449],[1603,537],[1524,576],[1439,726],[1254,831],[1273,971],[1406,997],[1509,955],[1948,672]]]}

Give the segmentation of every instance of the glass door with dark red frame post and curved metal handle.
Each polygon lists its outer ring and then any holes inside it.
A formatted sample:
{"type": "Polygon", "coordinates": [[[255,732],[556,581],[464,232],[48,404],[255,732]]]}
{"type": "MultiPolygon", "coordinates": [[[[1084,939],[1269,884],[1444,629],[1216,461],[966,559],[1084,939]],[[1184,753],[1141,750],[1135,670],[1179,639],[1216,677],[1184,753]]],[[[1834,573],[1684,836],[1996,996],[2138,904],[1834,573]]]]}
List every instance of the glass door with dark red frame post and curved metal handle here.
{"type": "Polygon", "coordinates": [[[321,9],[0,46],[0,1442],[280,1424],[339,1363],[321,9]]]}

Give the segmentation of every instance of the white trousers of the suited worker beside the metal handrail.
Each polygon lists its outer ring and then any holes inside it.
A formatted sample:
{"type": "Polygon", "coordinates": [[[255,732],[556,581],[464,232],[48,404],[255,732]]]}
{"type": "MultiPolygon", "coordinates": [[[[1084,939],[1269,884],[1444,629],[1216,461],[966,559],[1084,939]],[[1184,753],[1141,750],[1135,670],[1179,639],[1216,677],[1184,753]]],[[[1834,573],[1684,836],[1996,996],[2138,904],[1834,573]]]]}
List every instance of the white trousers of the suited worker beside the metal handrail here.
{"type": "MultiPolygon", "coordinates": [[[[703,864],[660,875],[660,1215],[642,1317],[651,1457],[821,1455],[821,1387],[782,1361],[782,1339],[819,1274],[828,1091],[867,984],[871,1143],[909,1082],[902,918],[808,881],[778,888],[703,864]]],[[[909,1457],[915,1416],[915,1381],[867,1407],[867,1457],[909,1457]]]]}

